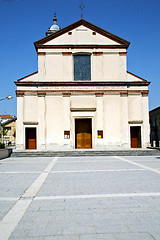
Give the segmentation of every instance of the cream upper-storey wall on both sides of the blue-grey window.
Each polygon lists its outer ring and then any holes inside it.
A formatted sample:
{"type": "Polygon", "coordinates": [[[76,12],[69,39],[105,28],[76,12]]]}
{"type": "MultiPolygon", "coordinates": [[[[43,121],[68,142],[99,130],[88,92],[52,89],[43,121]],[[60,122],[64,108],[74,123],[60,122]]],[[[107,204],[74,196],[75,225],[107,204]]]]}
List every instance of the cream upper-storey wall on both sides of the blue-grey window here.
{"type": "MultiPolygon", "coordinates": [[[[38,59],[40,81],[74,81],[73,55],[50,53],[38,59]]],[[[126,56],[120,56],[119,53],[91,55],[91,81],[126,81],[126,79],[126,56]]]]}

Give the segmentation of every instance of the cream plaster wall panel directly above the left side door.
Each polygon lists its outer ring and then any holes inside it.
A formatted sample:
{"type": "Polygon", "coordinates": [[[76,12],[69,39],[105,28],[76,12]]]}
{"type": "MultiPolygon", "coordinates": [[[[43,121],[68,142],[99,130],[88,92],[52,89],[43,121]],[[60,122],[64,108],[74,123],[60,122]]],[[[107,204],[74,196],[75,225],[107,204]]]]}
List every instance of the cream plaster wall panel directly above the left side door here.
{"type": "Polygon", "coordinates": [[[38,122],[37,96],[24,96],[24,122],[38,122]]]}

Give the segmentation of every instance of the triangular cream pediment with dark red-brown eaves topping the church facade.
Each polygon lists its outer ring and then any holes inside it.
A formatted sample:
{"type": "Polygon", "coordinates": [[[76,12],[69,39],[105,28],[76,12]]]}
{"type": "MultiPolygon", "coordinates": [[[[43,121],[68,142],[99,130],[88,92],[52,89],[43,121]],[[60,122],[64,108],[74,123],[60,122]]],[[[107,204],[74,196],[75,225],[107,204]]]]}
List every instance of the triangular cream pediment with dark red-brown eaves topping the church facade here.
{"type": "Polygon", "coordinates": [[[129,42],[81,19],[37,42],[35,47],[50,45],[114,45],[128,47],[129,42]]]}

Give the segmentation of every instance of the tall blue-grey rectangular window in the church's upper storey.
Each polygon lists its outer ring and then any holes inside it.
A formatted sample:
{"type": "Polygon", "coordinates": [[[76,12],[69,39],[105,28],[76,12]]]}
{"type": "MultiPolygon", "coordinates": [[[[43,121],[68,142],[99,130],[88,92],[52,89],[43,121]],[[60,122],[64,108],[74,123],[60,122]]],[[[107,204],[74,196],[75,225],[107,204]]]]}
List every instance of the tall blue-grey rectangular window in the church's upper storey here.
{"type": "Polygon", "coordinates": [[[90,55],[74,56],[74,80],[77,80],[77,81],[91,80],[91,56],[90,55]]]}

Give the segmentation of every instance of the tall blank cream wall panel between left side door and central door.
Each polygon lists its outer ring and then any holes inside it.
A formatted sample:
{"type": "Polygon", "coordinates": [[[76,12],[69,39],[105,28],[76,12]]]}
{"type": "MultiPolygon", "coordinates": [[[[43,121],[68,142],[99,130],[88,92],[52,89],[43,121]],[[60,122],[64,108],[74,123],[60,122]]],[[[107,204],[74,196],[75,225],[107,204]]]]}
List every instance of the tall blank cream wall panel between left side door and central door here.
{"type": "Polygon", "coordinates": [[[46,95],[45,100],[47,148],[59,148],[59,146],[63,145],[64,134],[63,97],[46,95]]]}

